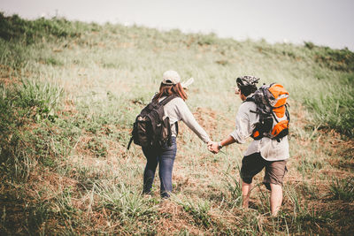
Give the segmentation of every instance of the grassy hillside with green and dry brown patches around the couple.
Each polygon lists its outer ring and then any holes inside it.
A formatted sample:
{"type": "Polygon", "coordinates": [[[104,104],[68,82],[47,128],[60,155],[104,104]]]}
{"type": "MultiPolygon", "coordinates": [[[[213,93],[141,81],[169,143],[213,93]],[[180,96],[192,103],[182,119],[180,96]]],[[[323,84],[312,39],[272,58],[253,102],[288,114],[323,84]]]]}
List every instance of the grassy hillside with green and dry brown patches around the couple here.
{"type": "Polygon", "coordinates": [[[354,53],[237,42],[0,14],[1,234],[353,234],[354,53]],[[234,129],[235,78],[290,92],[289,172],[279,217],[254,180],[242,209],[244,145],[213,156],[181,123],[174,194],[145,198],[132,123],[173,69],[195,78],[187,101],[213,140],[234,129]]]}

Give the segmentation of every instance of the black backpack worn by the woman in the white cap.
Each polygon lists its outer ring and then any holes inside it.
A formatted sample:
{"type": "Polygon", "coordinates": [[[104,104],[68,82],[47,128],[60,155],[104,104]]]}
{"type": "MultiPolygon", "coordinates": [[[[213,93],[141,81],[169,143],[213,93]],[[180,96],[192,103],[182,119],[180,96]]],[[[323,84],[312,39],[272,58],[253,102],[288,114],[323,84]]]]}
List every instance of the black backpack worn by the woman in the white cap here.
{"type": "Polygon", "coordinates": [[[161,148],[165,143],[172,145],[170,118],[165,116],[164,106],[178,95],[170,95],[163,101],[152,101],[135,118],[132,137],[127,145],[134,141],[143,148],[161,148]]]}

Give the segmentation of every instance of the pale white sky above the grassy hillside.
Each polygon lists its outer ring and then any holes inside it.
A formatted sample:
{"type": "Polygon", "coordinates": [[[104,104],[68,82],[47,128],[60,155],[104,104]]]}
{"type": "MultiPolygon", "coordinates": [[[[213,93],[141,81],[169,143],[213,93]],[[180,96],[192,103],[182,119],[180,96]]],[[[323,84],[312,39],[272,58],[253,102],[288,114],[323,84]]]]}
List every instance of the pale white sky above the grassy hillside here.
{"type": "Polygon", "coordinates": [[[0,0],[0,11],[354,51],[351,0],[0,0]]]}

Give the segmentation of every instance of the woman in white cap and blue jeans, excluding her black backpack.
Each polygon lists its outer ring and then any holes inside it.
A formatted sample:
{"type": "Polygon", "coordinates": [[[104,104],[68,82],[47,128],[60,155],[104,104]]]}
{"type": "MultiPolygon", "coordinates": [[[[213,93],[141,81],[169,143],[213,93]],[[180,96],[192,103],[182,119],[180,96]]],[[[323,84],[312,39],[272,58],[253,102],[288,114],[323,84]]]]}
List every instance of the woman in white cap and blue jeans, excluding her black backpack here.
{"type": "Polygon", "coordinates": [[[178,72],[166,71],[163,74],[159,92],[153,97],[153,100],[161,102],[168,95],[178,95],[178,97],[166,103],[164,106],[165,115],[170,119],[172,130],[172,145],[167,144],[162,148],[142,148],[147,163],[143,174],[143,194],[150,194],[152,183],[155,177],[155,171],[159,164],[158,176],[161,187],[160,194],[162,198],[168,198],[172,192],[172,171],[173,162],[177,153],[176,136],[178,132],[178,121],[182,120],[196,135],[209,144],[211,142],[208,134],[199,126],[190,112],[187,104],[187,95],[181,86],[181,77],[178,72]]]}

